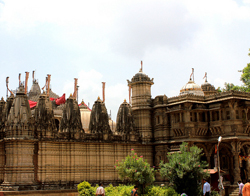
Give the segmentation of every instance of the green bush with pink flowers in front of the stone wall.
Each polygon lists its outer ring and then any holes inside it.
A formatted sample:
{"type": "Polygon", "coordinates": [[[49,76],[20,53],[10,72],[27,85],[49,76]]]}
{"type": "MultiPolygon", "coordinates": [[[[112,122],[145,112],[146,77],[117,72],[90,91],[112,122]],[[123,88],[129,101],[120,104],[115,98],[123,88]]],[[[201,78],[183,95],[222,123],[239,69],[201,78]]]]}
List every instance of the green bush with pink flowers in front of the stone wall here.
{"type": "Polygon", "coordinates": [[[131,154],[115,166],[121,180],[140,186],[144,193],[144,188],[155,181],[155,169],[150,167],[147,160],[143,160],[143,156],[138,156],[134,149],[131,149],[131,154]]]}

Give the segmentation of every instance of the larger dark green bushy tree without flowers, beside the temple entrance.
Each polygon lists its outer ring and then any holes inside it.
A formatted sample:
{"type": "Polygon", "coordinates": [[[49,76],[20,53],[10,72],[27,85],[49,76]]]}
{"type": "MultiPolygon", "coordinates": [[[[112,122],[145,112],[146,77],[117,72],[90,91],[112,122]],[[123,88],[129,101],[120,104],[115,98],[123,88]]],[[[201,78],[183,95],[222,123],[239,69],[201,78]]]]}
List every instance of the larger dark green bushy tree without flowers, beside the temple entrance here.
{"type": "Polygon", "coordinates": [[[176,192],[199,195],[202,178],[209,176],[204,172],[208,164],[201,161],[202,155],[202,149],[197,146],[188,147],[188,144],[183,142],[180,152],[167,155],[168,163],[160,163],[160,174],[173,184],[176,192]]]}

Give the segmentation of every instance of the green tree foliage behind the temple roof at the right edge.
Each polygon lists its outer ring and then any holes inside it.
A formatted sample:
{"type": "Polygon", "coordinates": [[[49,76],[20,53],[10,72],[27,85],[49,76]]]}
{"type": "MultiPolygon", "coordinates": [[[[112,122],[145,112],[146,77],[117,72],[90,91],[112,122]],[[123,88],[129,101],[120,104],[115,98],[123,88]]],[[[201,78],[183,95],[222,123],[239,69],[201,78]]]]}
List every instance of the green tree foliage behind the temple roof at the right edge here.
{"type": "MultiPolygon", "coordinates": [[[[250,49],[249,49],[250,51],[250,49]]],[[[250,53],[248,53],[248,56],[250,56],[250,53]]],[[[221,91],[243,91],[243,92],[250,92],[250,63],[247,64],[246,67],[243,68],[243,70],[240,70],[242,72],[240,80],[243,82],[243,85],[238,86],[234,85],[233,83],[225,83],[223,89],[218,89],[219,92],[221,91]]]]}

